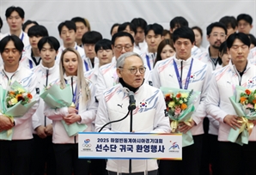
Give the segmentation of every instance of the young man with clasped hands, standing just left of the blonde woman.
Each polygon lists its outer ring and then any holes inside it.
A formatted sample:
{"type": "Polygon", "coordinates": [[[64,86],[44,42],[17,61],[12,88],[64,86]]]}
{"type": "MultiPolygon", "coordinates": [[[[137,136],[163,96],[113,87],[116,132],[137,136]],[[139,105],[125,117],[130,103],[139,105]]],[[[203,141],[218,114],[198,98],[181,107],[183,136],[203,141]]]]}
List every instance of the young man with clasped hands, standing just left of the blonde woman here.
{"type": "MultiPolygon", "coordinates": [[[[30,30],[30,29],[29,29],[30,30]]],[[[34,68],[40,92],[59,80],[59,66],[55,63],[58,54],[58,39],[50,36],[43,37],[38,43],[41,62],[34,68]]],[[[56,160],[52,145],[52,120],[44,115],[44,100],[33,116],[34,153],[32,156],[31,174],[56,174],[56,160]]]]}

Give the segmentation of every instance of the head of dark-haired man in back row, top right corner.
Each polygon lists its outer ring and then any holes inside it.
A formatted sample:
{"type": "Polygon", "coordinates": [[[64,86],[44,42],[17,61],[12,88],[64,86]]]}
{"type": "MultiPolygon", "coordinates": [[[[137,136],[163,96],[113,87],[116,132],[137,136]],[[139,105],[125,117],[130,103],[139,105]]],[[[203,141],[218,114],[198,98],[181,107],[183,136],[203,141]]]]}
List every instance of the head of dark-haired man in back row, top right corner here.
{"type": "Polygon", "coordinates": [[[249,34],[253,28],[253,18],[251,15],[241,14],[236,17],[237,30],[239,33],[249,34]]]}

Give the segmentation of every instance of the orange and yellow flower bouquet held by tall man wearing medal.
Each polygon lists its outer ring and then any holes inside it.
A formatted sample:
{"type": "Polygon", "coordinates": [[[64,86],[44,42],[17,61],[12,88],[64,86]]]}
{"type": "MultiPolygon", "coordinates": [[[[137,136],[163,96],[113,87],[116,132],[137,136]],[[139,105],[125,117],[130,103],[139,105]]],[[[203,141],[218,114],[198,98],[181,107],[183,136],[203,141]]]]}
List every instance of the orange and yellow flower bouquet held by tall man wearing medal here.
{"type": "MultiPolygon", "coordinates": [[[[193,104],[198,100],[200,92],[171,87],[161,87],[160,89],[165,96],[172,132],[179,132],[177,129],[180,122],[190,126],[192,113],[195,111],[193,104]]],[[[186,134],[182,133],[182,147],[192,144],[191,131],[187,131],[186,134]]]]}

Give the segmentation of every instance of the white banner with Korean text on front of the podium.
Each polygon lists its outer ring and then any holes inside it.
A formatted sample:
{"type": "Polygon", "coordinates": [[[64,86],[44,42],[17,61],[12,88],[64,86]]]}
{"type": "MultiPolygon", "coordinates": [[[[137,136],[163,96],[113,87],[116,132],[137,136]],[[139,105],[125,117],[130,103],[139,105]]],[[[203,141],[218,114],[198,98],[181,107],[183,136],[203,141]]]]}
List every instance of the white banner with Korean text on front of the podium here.
{"type": "Polygon", "coordinates": [[[182,134],[80,132],[80,159],[182,160],[182,134]]]}

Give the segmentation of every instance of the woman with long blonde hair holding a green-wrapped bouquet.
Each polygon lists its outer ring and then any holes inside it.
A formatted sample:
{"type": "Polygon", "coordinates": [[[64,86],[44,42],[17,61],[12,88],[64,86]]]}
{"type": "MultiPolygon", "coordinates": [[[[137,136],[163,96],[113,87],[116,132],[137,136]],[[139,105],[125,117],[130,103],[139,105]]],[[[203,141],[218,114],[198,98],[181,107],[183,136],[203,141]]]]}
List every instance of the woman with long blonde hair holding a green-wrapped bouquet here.
{"type": "Polygon", "coordinates": [[[94,87],[82,70],[82,58],[74,48],[63,51],[60,62],[60,87],[70,84],[75,107],[63,107],[58,110],[46,106],[45,115],[52,119],[52,142],[57,161],[57,174],[88,174],[88,160],[78,159],[78,138],[68,136],[61,120],[66,124],[86,124],[85,132],[93,131],[97,103],[94,100],[94,87]]]}

